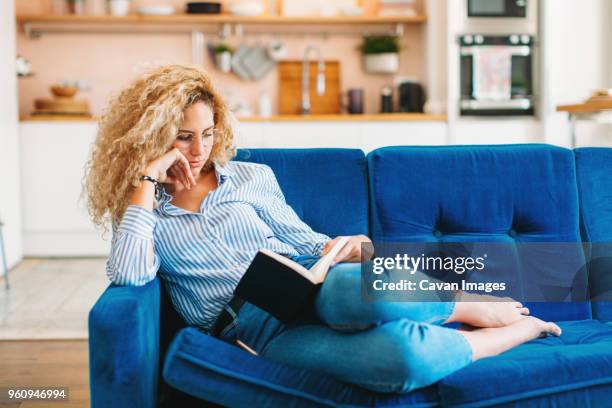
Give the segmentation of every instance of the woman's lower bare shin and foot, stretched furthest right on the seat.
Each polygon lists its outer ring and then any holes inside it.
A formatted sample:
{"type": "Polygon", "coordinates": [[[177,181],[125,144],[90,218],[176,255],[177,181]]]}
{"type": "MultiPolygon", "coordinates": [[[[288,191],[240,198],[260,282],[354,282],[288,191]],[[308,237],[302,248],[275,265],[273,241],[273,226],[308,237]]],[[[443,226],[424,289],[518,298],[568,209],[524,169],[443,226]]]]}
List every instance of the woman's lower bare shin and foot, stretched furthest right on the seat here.
{"type": "Polygon", "coordinates": [[[472,361],[495,356],[513,347],[541,336],[561,335],[561,328],[552,322],[545,322],[536,317],[527,316],[505,327],[461,330],[472,347],[472,361]]]}

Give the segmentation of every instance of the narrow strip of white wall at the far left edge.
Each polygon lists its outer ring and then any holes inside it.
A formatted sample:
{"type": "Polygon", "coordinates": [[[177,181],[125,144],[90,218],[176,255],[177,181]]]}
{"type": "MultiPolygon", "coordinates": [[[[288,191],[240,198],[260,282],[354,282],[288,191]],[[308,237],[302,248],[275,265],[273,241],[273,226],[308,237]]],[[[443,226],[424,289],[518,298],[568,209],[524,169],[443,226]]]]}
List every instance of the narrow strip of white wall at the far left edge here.
{"type": "Polygon", "coordinates": [[[9,268],[22,257],[15,52],[13,1],[0,1],[0,218],[9,268]]]}

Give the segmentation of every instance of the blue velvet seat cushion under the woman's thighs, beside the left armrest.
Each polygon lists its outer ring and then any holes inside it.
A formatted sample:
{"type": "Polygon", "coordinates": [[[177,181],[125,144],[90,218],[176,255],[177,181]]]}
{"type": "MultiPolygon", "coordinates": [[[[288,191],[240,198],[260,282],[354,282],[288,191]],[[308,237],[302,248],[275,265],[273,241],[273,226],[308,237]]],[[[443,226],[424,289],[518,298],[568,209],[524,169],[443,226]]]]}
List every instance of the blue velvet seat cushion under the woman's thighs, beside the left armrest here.
{"type": "Polygon", "coordinates": [[[378,394],[328,375],[253,356],[186,328],[166,355],[164,379],[174,388],[225,406],[438,406],[435,388],[409,394],[378,394]]]}

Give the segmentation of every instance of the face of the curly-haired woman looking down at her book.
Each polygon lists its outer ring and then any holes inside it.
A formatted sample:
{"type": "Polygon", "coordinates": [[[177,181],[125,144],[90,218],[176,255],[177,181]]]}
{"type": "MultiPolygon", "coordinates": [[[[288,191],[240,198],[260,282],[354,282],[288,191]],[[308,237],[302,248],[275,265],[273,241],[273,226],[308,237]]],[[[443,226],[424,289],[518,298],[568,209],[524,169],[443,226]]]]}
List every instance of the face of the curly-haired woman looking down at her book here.
{"type": "Polygon", "coordinates": [[[183,123],[172,144],[189,160],[191,173],[196,178],[212,151],[215,142],[214,125],[210,106],[196,102],[183,112],[183,123]]]}

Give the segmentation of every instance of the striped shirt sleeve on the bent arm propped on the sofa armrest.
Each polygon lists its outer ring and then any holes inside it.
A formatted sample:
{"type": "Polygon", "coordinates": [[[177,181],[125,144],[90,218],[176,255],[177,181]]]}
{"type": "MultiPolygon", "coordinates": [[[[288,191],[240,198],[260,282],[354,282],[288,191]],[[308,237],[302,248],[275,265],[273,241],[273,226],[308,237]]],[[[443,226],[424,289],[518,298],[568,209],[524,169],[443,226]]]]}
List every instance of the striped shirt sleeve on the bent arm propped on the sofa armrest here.
{"type": "Polygon", "coordinates": [[[128,206],[121,223],[113,224],[110,256],[106,275],[117,285],[141,286],[155,278],[160,260],[155,253],[153,232],[157,217],[136,205],[128,206]],[[153,253],[149,265],[148,251],[153,253]]]}

